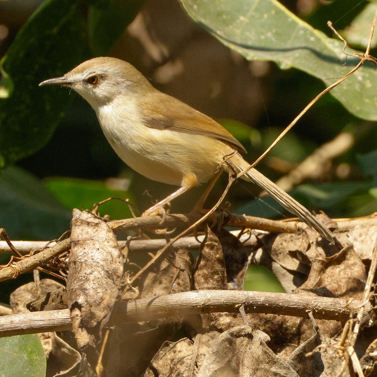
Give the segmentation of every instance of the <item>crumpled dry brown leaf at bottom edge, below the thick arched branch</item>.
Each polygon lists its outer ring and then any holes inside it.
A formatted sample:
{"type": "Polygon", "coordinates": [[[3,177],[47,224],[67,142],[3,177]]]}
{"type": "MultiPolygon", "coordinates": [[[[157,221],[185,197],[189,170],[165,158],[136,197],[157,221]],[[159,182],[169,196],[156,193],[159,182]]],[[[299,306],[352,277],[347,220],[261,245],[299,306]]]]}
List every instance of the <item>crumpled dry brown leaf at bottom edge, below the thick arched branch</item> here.
{"type": "Polygon", "coordinates": [[[198,334],[194,342],[187,338],[166,342],[151,361],[145,377],[298,377],[268,348],[268,340],[260,330],[238,326],[222,334],[198,334]]]}

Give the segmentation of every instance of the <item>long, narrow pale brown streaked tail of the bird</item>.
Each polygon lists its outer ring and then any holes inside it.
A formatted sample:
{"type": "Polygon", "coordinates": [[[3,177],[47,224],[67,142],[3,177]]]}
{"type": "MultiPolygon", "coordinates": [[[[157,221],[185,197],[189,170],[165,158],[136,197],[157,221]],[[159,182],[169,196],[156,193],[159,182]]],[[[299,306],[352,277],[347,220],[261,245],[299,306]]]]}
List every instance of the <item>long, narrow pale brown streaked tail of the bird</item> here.
{"type": "MultiPolygon", "coordinates": [[[[237,173],[245,170],[249,164],[240,155],[233,156],[229,161],[237,173]]],[[[302,204],[288,195],[284,190],[280,189],[274,182],[270,181],[258,170],[250,169],[244,174],[242,179],[253,182],[265,190],[277,202],[279,202],[286,210],[298,216],[303,222],[314,228],[322,237],[325,237],[332,244],[335,244],[334,234],[314,215],[312,215],[302,204]]]]}

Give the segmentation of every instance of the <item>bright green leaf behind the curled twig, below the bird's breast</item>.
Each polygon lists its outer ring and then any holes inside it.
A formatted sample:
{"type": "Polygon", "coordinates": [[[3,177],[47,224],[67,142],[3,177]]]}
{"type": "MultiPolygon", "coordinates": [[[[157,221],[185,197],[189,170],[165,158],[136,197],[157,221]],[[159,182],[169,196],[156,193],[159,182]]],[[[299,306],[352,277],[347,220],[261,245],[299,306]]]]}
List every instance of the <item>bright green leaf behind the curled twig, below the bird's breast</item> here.
{"type": "MultiPolygon", "coordinates": [[[[130,199],[134,203],[133,195],[129,191],[114,190],[105,182],[91,181],[76,178],[49,178],[46,179],[46,188],[70,211],[73,208],[91,210],[95,203],[107,198],[116,197],[130,199]]],[[[102,215],[110,215],[112,219],[131,217],[126,203],[111,200],[99,207],[102,215]]]]}

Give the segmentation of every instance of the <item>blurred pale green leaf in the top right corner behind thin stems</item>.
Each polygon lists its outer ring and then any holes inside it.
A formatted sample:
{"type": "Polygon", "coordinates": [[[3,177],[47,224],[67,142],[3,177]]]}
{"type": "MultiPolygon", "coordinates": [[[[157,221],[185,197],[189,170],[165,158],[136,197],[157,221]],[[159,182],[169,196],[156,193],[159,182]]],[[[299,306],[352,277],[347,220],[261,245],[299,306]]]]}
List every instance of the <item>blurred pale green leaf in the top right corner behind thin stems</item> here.
{"type": "MultiPolygon", "coordinates": [[[[342,37],[347,43],[366,48],[368,45],[369,34],[371,33],[371,24],[373,22],[376,5],[368,4],[352,21],[352,23],[343,30],[342,37]]],[[[377,46],[377,35],[374,33],[371,48],[377,46]]]]}

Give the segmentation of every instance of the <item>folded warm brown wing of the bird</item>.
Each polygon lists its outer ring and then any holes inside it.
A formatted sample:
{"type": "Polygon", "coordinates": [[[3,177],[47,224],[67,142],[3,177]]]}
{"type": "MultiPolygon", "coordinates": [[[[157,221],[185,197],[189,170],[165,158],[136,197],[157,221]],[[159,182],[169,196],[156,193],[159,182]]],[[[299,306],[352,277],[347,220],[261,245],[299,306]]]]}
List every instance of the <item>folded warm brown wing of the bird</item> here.
{"type": "Polygon", "coordinates": [[[142,108],[148,127],[211,136],[246,153],[242,144],[223,126],[177,98],[156,90],[143,97],[142,108]]]}

